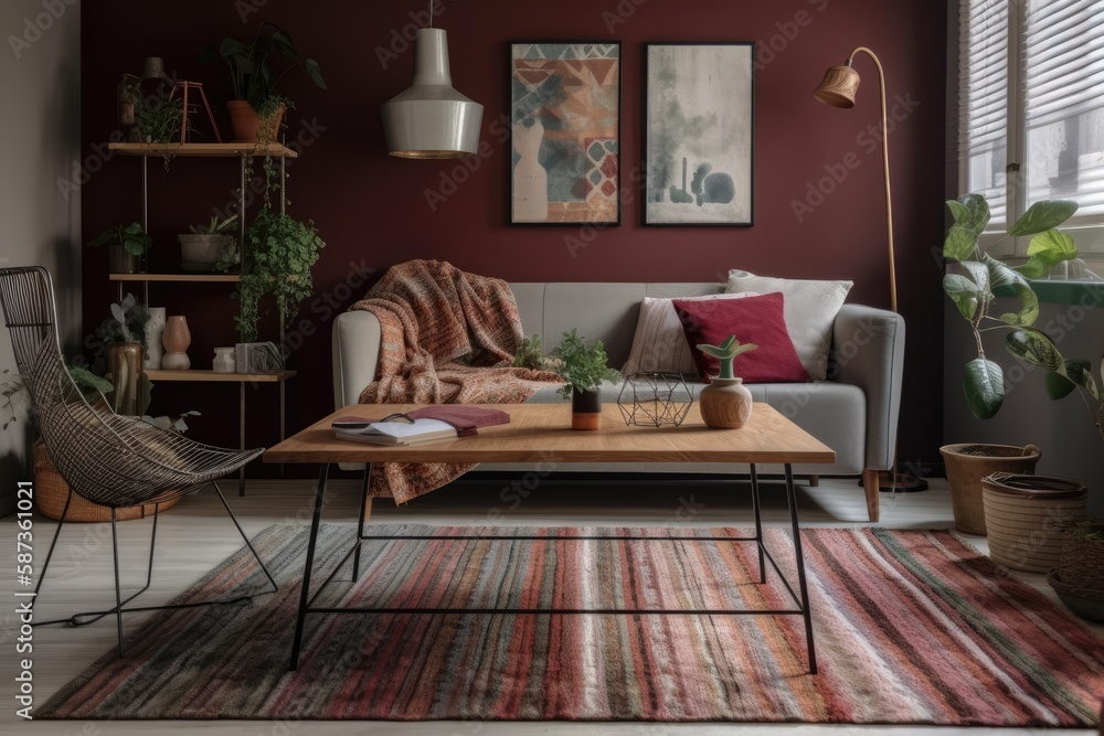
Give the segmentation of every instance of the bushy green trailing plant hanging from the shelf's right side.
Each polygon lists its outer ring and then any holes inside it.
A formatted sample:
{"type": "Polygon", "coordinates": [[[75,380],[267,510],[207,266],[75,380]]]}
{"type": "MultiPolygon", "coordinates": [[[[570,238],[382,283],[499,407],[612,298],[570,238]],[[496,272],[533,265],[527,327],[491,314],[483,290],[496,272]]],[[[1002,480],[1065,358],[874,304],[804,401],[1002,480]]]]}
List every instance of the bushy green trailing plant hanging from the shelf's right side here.
{"type": "MultiPolygon", "coordinates": [[[[318,260],[318,252],[326,247],[314,225],[312,221],[299,222],[265,207],[246,231],[242,280],[237,287],[241,300],[237,327],[244,342],[256,340],[264,297],[274,297],[278,312],[290,321],[299,302],[312,294],[311,267],[318,260]]],[[[229,270],[225,260],[219,267],[229,270]]]]}

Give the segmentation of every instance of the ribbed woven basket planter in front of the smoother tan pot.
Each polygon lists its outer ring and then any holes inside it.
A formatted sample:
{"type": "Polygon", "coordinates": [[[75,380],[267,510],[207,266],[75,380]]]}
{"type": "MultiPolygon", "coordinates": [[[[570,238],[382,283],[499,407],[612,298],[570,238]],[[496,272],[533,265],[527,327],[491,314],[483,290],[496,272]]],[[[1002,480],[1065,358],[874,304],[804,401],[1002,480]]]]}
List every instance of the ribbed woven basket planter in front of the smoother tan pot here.
{"type": "Polygon", "coordinates": [[[1085,520],[1089,489],[1068,478],[997,472],[983,479],[981,499],[989,556],[1045,573],[1061,559],[1065,527],[1085,520]]]}

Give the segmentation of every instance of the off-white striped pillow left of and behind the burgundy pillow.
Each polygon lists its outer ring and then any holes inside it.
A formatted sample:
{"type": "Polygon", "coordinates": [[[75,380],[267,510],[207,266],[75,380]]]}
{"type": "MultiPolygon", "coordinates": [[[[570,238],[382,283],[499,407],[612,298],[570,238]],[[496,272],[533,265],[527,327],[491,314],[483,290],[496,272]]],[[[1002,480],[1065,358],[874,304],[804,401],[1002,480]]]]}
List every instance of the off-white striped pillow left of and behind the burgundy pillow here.
{"type": "MultiPolygon", "coordinates": [[[[754,294],[710,294],[704,297],[679,297],[684,301],[704,299],[739,299],[754,294]]],[[[698,364],[687,343],[686,331],[670,299],[645,297],[640,302],[640,317],[636,321],[633,350],[622,366],[622,373],[641,371],[677,371],[698,375],[698,364]]]]}

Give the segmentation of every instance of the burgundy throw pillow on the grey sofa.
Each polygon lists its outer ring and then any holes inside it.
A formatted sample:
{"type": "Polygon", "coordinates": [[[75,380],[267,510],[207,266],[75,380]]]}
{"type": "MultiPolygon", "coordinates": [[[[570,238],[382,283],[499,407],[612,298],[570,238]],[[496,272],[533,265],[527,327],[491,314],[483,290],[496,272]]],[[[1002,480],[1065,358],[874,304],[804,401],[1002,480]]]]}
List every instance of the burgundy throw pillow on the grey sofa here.
{"type": "Polygon", "coordinates": [[[730,334],[740,344],[754,343],[756,350],[736,355],[732,372],[744,383],[797,383],[808,381],[794,342],[786,330],[781,294],[764,294],[743,299],[712,301],[671,301],[682,322],[694,363],[702,376],[716,375],[721,362],[697,349],[700,344],[718,345],[730,334]]]}

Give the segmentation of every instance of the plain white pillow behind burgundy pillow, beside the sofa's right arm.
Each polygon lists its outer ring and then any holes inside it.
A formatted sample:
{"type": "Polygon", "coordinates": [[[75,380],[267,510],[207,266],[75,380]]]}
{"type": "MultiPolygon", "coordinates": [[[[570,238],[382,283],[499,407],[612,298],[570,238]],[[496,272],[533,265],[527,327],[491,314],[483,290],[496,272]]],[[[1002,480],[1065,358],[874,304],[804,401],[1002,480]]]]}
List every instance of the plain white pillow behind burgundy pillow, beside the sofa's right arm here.
{"type": "Polygon", "coordinates": [[[810,279],[755,276],[733,268],[729,271],[729,291],[772,294],[781,291],[783,314],[789,339],[802,365],[815,381],[828,376],[828,351],[831,349],[831,327],[843,306],[853,281],[815,281],[810,279]]]}

